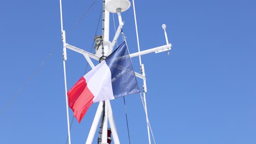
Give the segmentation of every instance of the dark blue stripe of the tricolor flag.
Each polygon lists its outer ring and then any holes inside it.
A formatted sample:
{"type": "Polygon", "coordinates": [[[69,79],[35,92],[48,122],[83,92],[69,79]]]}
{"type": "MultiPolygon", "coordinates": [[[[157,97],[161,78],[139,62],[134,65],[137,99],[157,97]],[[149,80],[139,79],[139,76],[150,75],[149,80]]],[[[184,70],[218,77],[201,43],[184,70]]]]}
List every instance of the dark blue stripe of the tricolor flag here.
{"type": "Polygon", "coordinates": [[[125,41],[105,61],[111,71],[115,98],[140,92],[125,41]]]}

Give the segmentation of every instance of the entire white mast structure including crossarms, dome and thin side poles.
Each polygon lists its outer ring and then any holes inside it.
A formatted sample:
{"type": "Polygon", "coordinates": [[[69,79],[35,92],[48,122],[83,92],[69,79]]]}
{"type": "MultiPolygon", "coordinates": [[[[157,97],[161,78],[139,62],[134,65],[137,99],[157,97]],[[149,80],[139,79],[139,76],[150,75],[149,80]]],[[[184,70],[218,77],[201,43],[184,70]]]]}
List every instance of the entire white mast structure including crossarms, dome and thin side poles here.
{"type": "MultiPolygon", "coordinates": [[[[117,42],[117,39],[120,35],[120,32],[124,26],[124,22],[122,21],[121,18],[121,13],[124,12],[125,10],[130,8],[130,1],[129,0],[103,0],[103,16],[102,16],[102,37],[99,37],[97,35],[95,37],[95,54],[92,54],[90,52],[84,51],[82,49],[79,49],[78,47],[69,45],[66,43],[66,35],[65,31],[63,30],[63,24],[62,24],[62,5],[61,5],[61,0],[60,0],[60,13],[61,13],[61,32],[62,32],[62,41],[63,41],[63,69],[64,69],[64,77],[65,77],[65,93],[66,93],[66,106],[67,106],[67,124],[68,124],[68,140],[69,144],[71,144],[71,139],[70,139],[70,129],[69,129],[69,115],[68,115],[68,98],[67,98],[67,81],[66,81],[66,65],[65,61],[67,60],[67,53],[66,53],[66,48],[73,50],[75,52],[81,53],[84,55],[86,61],[88,61],[89,65],[91,68],[94,68],[94,63],[92,63],[90,58],[96,59],[97,61],[102,61],[102,59],[106,58],[110,53],[113,51],[113,47],[115,43],[117,42]],[[109,41],[109,12],[110,13],[117,13],[118,14],[118,20],[119,20],[119,27],[117,29],[117,32],[114,35],[114,38],[111,41],[109,41]],[[103,44],[101,43],[103,41],[103,44]],[[96,46],[98,49],[96,49],[96,46]]],[[[133,8],[134,8],[134,2],[133,2],[133,8]]],[[[135,12],[135,8],[133,9],[135,12]]],[[[135,21],[136,21],[136,15],[135,15],[135,21]]],[[[166,39],[166,45],[159,46],[159,47],[154,47],[153,49],[149,50],[144,50],[140,51],[139,50],[139,43],[138,43],[138,52],[130,54],[130,57],[136,57],[139,56],[139,61],[141,64],[141,72],[142,74],[138,74],[135,72],[135,75],[139,77],[140,79],[143,80],[143,96],[144,96],[144,110],[146,112],[146,119],[147,119],[147,127],[148,127],[148,137],[149,137],[149,143],[150,142],[150,134],[149,134],[149,121],[148,121],[148,115],[147,115],[147,105],[146,105],[146,95],[145,93],[147,92],[147,86],[146,86],[146,76],[145,76],[145,71],[144,71],[144,65],[141,63],[141,55],[145,55],[147,53],[151,52],[162,52],[162,51],[169,51],[171,50],[171,44],[168,43],[168,38],[166,34],[166,26],[162,25],[162,28],[165,31],[165,39],[166,39]]],[[[137,33],[137,22],[136,22],[136,33],[137,33]]],[[[137,42],[138,42],[138,33],[137,33],[137,42]]],[[[94,121],[92,122],[91,129],[88,135],[88,139],[86,141],[86,144],[92,143],[95,132],[97,130],[98,122],[100,121],[102,116],[102,134],[100,136],[100,143],[102,144],[107,144],[107,139],[108,139],[108,121],[110,125],[110,129],[112,131],[112,136],[114,143],[119,144],[119,137],[117,134],[117,129],[115,128],[115,123],[114,123],[114,117],[113,117],[113,112],[112,108],[110,105],[110,101],[101,101],[98,105],[96,115],[94,118],[94,121]],[[104,105],[104,106],[103,106],[104,105]],[[102,114],[103,113],[103,114],[102,114]]]]}

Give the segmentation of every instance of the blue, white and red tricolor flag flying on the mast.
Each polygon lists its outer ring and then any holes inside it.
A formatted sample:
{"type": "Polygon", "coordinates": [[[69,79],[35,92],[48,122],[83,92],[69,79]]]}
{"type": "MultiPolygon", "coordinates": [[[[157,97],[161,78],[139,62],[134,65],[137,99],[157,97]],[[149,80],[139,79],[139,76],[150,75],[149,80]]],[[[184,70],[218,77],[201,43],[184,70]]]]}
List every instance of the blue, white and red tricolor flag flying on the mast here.
{"type": "Polygon", "coordinates": [[[124,41],[104,61],[81,77],[67,94],[69,107],[80,123],[92,103],[139,92],[131,58],[124,41]]]}

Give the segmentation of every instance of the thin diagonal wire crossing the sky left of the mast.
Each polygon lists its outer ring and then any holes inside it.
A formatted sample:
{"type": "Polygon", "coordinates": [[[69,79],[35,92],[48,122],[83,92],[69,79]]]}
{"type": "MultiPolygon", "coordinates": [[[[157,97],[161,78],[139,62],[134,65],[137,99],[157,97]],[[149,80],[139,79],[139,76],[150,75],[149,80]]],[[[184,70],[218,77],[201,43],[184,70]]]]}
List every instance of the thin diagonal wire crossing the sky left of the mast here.
{"type": "MultiPolygon", "coordinates": [[[[91,6],[88,8],[88,10],[85,11],[85,13],[83,14],[82,17],[80,17],[80,19],[78,20],[77,23],[75,23],[75,25],[67,32],[66,35],[70,34],[73,29],[78,25],[78,23],[84,18],[84,16],[88,13],[88,11],[91,9],[91,7],[95,4],[97,0],[94,1],[94,3],[91,4],[91,6]]],[[[22,87],[19,89],[18,92],[16,92],[13,96],[13,98],[11,98],[10,102],[0,111],[0,114],[3,113],[7,107],[9,107],[9,105],[11,103],[13,103],[14,99],[20,94],[20,92],[27,86],[28,82],[30,82],[33,77],[38,73],[38,71],[43,67],[43,65],[49,60],[49,58],[53,55],[53,53],[57,50],[57,48],[61,45],[62,43],[58,44],[57,46],[55,46],[54,50],[51,51],[51,53],[48,55],[48,57],[46,57],[44,59],[44,61],[39,65],[39,67],[34,71],[34,73],[27,79],[27,81],[24,83],[24,85],[22,85],[22,87]]],[[[86,68],[87,69],[87,68],[86,68]]]]}

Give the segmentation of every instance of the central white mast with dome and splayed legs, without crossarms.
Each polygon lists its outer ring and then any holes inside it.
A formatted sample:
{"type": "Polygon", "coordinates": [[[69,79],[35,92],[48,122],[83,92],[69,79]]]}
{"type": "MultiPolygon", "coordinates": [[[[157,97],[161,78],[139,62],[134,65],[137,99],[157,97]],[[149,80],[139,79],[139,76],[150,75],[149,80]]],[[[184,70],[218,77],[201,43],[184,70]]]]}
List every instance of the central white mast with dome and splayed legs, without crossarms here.
{"type": "MultiPolygon", "coordinates": [[[[100,62],[106,58],[110,53],[113,51],[113,47],[115,45],[115,42],[117,41],[117,38],[121,32],[121,28],[123,27],[124,23],[121,19],[121,12],[122,10],[125,11],[130,7],[130,2],[128,0],[103,0],[103,11],[102,11],[102,41],[103,45],[102,46],[102,51],[101,51],[101,58],[100,62]],[[118,32],[115,34],[113,43],[109,41],[109,12],[111,13],[117,13],[118,14],[118,19],[119,19],[119,27],[118,27],[118,32]]],[[[100,52],[96,52],[96,55],[99,55],[100,52]]],[[[112,114],[112,109],[110,105],[110,101],[103,101],[100,103],[98,106],[98,109],[100,109],[100,106],[102,106],[102,112],[101,112],[101,124],[100,124],[100,136],[98,137],[98,143],[107,143],[108,141],[108,121],[110,125],[110,130],[112,131],[113,135],[113,140],[114,143],[120,143],[119,142],[119,137],[117,134],[117,130],[115,128],[115,123],[114,123],[114,118],[112,114]]],[[[98,110],[97,110],[98,111],[98,110]]],[[[99,110],[100,111],[100,110],[99,110]]],[[[98,122],[99,116],[98,113],[96,112],[96,119],[95,121],[98,122]]],[[[91,126],[90,133],[88,135],[88,139],[86,143],[92,143],[92,140],[95,135],[95,127],[97,127],[98,123],[93,123],[91,126]]]]}

